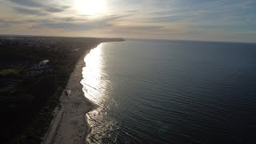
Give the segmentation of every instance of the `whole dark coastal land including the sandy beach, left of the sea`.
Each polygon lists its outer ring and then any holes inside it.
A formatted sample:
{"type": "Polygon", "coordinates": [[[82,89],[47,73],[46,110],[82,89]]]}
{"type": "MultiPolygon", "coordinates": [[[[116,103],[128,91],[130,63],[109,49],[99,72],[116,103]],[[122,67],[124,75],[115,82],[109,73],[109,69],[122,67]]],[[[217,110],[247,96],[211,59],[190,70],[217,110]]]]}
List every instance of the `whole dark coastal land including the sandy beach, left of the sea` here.
{"type": "Polygon", "coordinates": [[[122,41],[1,35],[1,142],[85,142],[84,118],[94,104],[82,93],[81,59],[101,42],[122,41]],[[69,134],[73,139],[63,141],[69,134]]]}

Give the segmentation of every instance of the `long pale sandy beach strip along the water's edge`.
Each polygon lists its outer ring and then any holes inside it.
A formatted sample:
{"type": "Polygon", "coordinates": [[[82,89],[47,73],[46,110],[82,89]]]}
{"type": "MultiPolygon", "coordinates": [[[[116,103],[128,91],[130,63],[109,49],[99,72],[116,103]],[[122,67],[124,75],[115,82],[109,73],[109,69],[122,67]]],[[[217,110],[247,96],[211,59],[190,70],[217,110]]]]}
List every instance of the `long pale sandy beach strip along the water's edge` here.
{"type": "Polygon", "coordinates": [[[85,98],[80,83],[86,54],[79,58],[74,71],[70,75],[69,82],[66,85],[66,90],[69,90],[70,94],[66,94],[65,91],[62,93],[60,98],[62,107],[58,108],[50,130],[42,143],[87,143],[86,135],[90,132],[90,127],[86,122],[86,113],[96,105],[85,98]]]}

